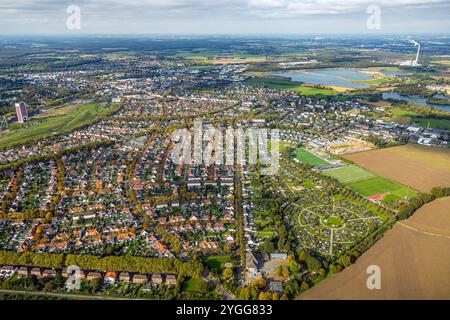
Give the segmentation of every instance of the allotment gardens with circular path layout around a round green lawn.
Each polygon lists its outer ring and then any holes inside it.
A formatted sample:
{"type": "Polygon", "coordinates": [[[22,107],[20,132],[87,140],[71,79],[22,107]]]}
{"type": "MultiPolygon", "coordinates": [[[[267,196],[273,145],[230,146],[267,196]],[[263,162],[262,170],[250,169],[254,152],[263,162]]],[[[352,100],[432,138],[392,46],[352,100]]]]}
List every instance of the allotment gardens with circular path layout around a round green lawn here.
{"type": "Polygon", "coordinates": [[[301,245],[331,256],[348,250],[382,223],[371,211],[334,198],[300,199],[289,210],[301,245]]]}

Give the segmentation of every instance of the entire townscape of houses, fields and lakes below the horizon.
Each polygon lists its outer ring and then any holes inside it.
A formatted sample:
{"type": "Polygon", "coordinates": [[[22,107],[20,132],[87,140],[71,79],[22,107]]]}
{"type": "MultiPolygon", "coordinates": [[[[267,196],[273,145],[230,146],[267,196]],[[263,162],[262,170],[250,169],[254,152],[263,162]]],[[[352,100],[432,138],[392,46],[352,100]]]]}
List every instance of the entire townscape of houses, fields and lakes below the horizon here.
{"type": "Polygon", "coordinates": [[[449,44],[1,37],[0,296],[450,299],[449,44]]]}

